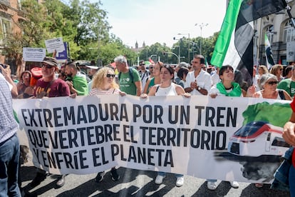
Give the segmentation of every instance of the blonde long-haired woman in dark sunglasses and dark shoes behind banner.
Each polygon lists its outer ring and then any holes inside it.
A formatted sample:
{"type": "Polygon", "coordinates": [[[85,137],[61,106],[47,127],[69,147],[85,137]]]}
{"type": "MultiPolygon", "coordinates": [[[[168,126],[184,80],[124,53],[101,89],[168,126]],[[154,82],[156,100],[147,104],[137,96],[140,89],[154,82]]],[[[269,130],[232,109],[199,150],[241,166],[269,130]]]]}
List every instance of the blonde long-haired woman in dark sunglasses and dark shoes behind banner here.
{"type": "MultiPolygon", "coordinates": [[[[120,94],[121,96],[125,96],[126,94],[120,91],[119,86],[115,83],[114,79],[115,71],[113,69],[110,69],[110,67],[100,69],[93,76],[92,89],[89,95],[120,94]]],[[[95,177],[95,181],[103,181],[103,176],[105,176],[105,172],[99,172],[95,177]]],[[[118,181],[120,179],[120,175],[118,175],[115,167],[110,170],[110,176],[112,176],[113,181],[118,181]]]]}

